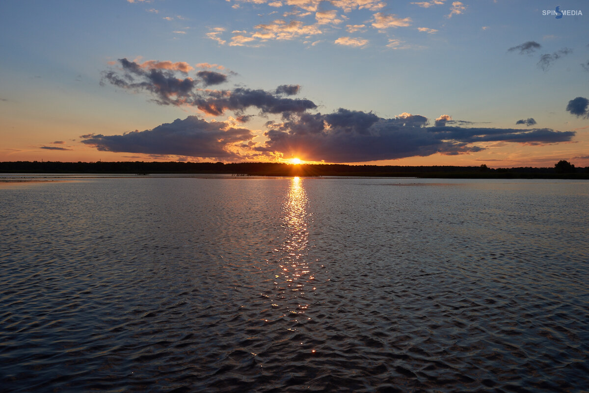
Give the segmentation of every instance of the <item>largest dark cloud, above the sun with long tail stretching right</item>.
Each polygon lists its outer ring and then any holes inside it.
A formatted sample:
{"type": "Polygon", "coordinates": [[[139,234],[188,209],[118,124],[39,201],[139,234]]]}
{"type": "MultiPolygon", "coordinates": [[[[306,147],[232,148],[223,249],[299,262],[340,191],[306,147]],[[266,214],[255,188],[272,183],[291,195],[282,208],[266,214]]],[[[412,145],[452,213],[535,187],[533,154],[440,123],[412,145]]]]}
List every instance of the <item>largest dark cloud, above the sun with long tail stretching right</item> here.
{"type": "Polygon", "coordinates": [[[339,109],[332,114],[302,114],[283,123],[269,122],[268,141],[258,151],[297,155],[312,161],[365,162],[435,153],[457,155],[481,151],[477,142],[546,144],[570,141],[572,131],[551,129],[427,127],[421,115],[393,119],[339,109]],[[296,117],[296,118],[295,118],[296,117]]]}

